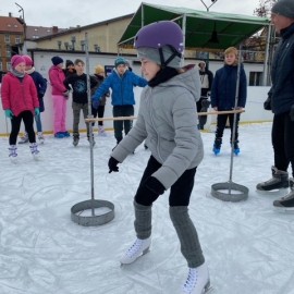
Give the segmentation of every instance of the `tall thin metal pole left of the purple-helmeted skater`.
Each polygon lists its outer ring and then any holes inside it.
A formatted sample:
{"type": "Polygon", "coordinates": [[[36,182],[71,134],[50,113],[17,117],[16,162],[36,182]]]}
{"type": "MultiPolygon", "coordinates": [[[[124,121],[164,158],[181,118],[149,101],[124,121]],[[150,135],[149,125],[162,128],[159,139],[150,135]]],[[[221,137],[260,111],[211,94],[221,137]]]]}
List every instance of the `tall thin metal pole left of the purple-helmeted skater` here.
{"type": "MultiPolygon", "coordinates": [[[[88,33],[85,33],[85,52],[86,52],[86,74],[87,74],[87,95],[88,95],[88,119],[93,119],[91,114],[91,95],[90,95],[90,76],[89,76],[89,51],[88,51],[88,33]]],[[[86,122],[87,123],[87,122],[86,122]]],[[[89,143],[90,143],[90,198],[95,200],[94,195],[94,155],[93,155],[93,124],[88,123],[89,126],[89,143]]],[[[94,205],[91,206],[91,216],[95,216],[94,205]]]]}

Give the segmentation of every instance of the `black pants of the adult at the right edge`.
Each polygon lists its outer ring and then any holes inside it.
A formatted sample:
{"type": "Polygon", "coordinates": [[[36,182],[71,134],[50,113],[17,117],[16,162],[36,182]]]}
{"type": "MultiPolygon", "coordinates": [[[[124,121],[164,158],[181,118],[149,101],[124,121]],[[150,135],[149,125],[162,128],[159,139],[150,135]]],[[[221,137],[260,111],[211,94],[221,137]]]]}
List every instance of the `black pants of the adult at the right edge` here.
{"type": "Polygon", "coordinates": [[[274,167],[278,170],[286,171],[291,162],[294,176],[294,121],[291,121],[289,112],[273,117],[271,142],[274,167]]]}

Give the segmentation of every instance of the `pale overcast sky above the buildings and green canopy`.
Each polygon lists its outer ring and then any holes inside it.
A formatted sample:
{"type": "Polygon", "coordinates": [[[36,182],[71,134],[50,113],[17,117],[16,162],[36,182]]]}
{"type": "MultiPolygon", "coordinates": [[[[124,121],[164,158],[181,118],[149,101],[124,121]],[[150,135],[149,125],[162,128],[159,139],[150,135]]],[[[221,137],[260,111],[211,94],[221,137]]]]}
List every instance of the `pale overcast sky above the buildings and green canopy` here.
{"type": "MultiPolygon", "coordinates": [[[[113,17],[134,13],[139,8],[139,0],[16,0],[24,9],[27,25],[70,27],[88,25],[113,17]]],[[[200,0],[146,0],[146,3],[183,7],[206,10],[200,0]]],[[[207,7],[211,0],[204,0],[207,7]]],[[[210,11],[254,15],[259,0],[218,0],[210,11]]],[[[22,15],[15,1],[1,0],[0,15],[22,15]]]]}

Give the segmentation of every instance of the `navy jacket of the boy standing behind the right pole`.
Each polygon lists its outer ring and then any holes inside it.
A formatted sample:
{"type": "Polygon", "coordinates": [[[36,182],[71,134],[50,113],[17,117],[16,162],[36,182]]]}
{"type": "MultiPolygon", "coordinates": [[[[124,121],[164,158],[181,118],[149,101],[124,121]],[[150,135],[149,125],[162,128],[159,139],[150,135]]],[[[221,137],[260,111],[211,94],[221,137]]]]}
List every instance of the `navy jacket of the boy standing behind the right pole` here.
{"type": "MultiPolygon", "coordinates": [[[[211,88],[211,107],[232,110],[236,99],[237,66],[224,64],[216,72],[211,88]]],[[[247,81],[243,64],[240,69],[237,107],[244,108],[247,98],[247,81]]]]}

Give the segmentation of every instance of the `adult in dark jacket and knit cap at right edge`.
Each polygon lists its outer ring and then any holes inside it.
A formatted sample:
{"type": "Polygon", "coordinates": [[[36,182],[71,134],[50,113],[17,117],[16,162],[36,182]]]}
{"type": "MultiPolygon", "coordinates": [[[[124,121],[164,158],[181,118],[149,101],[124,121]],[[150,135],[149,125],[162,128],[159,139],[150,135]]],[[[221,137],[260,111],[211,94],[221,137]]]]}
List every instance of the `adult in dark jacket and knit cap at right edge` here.
{"type": "Polygon", "coordinates": [[[271,131],[274,167],[271,168],[272,179],[259,183],[257,189],[272,191],[290,186],[290,193],[274,200],[273,206],[281,210],[294,210],[294,179],[289,179],[287,173],[291,163],[294,176],[294,1],[278,1],[271,13],[271,21],[281,36],[273,57],[272,86],[268,98],[274,114],[271,131]]]}

